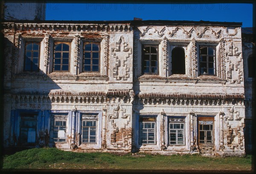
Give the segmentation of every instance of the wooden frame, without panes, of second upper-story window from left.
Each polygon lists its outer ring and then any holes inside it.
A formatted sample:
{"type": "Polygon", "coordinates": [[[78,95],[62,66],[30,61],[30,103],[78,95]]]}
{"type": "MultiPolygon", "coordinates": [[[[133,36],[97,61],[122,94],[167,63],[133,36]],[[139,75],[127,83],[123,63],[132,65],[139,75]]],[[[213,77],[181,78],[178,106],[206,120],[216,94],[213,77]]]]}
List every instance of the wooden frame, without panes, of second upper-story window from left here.
{"type": "MultiPolygon", "coordinates": [[[[70,62],[71,62],[71,41],[58,41],[58,40],[54,40],[53,41],[53,52],[52,52],[52,73],[58,73],[58,72],[64,72],[64,73],[69,73],[70,72],[70,62]],[[69,46],[69,61],[68,61],[68,70],[62,70],[62,59],[63,57],[61,57],[61,70],[54,70],[54,65],[55,65],[55,47],[59,44],[67,44],[69,46]]],[[[63,51],[60,51],[61,53],[63,53],[63,51]]],[[[62,55],[62,54],[61,54],[62,55]]]]}

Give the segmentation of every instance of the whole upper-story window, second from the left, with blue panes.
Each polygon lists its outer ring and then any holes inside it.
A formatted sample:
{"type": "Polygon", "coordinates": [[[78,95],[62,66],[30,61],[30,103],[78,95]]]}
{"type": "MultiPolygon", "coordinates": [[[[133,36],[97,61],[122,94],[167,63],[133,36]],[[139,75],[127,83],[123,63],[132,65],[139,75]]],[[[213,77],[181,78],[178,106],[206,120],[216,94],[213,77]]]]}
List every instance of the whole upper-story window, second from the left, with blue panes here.
{"type": "Polygon", "coordinates": [[[53,72],[69,71],[70,45],[67,43],[55,42],[53,72]]]}

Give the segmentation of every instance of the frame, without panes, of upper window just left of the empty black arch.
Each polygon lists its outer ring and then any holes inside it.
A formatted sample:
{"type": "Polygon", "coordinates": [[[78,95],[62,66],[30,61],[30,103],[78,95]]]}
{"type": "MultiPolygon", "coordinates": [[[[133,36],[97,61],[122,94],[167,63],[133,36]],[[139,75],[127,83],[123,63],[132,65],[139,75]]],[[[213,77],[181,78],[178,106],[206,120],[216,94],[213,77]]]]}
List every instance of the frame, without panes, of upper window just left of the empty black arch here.
{"type": "MultiPolygon", "coordinates": [[[[150,48],[151,49],[151,48],[150,48]]],[[[159,75],[159,63],[160,63],[160,61],[159,61],[159,45],[157,45],[157,44],[142,44],[141,45],[141,75],[159,75]],[[154,48],[156,48],[157,49],[157,53],[156,53],[156,55],[157,55],[157,73],[152,73],[151,72],[151,54],[155,54],[155,53],[149,53],[149,70],[150,70],[150,73],[145,73],[144,72],[144,48],[146,48],[146,47],[154,47],[154,48]]]]}

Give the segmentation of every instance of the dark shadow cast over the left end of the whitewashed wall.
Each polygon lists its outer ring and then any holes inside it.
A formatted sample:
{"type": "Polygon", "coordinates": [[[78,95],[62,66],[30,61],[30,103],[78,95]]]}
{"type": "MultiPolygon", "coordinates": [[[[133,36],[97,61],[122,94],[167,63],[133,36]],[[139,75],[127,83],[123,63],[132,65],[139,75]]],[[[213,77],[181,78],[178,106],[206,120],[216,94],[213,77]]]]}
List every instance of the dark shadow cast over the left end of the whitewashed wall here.
{"type": "Polygon", "coordinates": [[[19,52],[19,48],[15,48],[9,39],[3,39],[5,51],[3,94],[6,95],[4,115],[7,117],[3,121],[3,144],[10,147],[5,153],[29,147],[48,146],[51,131],[49,111],[57,109],[52,107],[55,99],[50,98],[49,94],[51,90],[60,90],[61,87],[38,68],[40,60],[39,48],[36,44],[27,44],[24,55],[20,56],[20,59],[23,59],[21,61],[24,61],[22,72],[11,73],[11,70],[17,68],[15,64],[18,60],[15,55],[19,52]]]}

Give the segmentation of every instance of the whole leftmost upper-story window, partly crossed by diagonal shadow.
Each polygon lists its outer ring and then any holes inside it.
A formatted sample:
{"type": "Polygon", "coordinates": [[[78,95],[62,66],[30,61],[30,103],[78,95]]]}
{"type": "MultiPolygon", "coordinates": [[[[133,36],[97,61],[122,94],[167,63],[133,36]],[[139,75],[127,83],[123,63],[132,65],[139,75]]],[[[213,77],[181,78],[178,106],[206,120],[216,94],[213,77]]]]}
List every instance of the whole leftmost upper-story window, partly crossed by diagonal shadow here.
{"type": "Polygon", "coordinates": [[[39,47],[39,42],[26,43],[24,71],[39,71],[39,47]]]}

